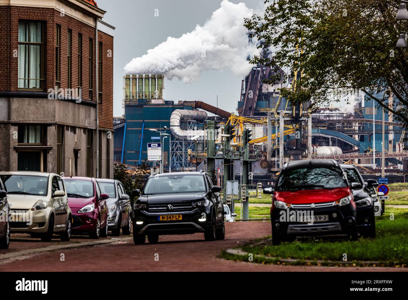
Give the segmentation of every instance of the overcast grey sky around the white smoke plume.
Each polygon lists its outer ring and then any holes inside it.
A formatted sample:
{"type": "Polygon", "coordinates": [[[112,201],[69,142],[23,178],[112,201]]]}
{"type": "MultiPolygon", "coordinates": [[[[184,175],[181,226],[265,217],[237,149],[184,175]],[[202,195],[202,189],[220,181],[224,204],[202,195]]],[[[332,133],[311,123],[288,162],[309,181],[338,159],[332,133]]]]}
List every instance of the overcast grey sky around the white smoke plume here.
{"type": "MultiPolygon", "coordinates": [[[[263,6],[263,0],[230,0],[245,2],[252,9],[263,6]]],[[[113,115],[123,113],[123,67],[134,57],[164,42],[167,37],[180,37],[191,32],[196,24],[203,25],[222,0],[97,0],[98,7],[106,11],[104,21],[116,27],[113,68],[113,115]],[[159,16],[154,10],[159,9],[159,16]]],[[[164,82],[164,99],[206,101],[224,110],[235,112],[242,77],[230,70],[204,71],[198,82],[186,85],[173,79],[164,82]]]]}

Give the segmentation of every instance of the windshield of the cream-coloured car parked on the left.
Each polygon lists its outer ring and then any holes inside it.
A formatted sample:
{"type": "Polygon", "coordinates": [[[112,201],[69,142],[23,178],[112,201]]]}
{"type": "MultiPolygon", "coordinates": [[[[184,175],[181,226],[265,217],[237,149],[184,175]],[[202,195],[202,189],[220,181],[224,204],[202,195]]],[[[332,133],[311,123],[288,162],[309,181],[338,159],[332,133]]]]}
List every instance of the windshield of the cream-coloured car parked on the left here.
{"type": "Polygon", "coordinates": [[[48,176],[2,175],[7,194],[47,196],[48,176]]]}

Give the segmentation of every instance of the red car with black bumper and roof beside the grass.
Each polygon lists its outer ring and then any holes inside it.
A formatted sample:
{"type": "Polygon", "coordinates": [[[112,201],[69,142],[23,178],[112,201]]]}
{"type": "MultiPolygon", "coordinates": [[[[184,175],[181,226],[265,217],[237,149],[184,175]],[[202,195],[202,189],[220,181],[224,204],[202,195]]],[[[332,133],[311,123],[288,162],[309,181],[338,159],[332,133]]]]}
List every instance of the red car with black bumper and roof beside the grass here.
{"type": "Polygon", "coordinates": [[[357,240],[353,192],[335,160],[285,163],[276,181],[271,207],[272,242],[297,236],[346,234],[357,240]]]}

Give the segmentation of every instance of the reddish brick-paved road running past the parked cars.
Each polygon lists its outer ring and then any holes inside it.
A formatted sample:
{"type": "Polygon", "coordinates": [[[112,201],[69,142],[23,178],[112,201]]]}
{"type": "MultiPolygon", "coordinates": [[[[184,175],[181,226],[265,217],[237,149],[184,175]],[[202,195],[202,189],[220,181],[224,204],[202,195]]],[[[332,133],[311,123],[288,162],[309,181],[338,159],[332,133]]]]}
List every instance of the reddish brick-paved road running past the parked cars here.
{"type": "Polygon", "coordinates": [[[0,271],[408,271],[406,268],[382,267],[259,265],[217,258],[222,249],[235,247],[270,233],[271,224],[268,222],[236,222],[226,223],[225,240],[213,242],[206,242],[204,234],[161,236],[157,244],[149,244],[146,240],[145,245],[137,246],[131,238],[122,235],[119,240],[100,238],[96,241],[74,237],[71,244],[88,242],[88,245],[73,249],[56,249],[67,247],[67,243],[62,243],[59,239],[45,245],[38,240],[30,242],[28,235],[25,238],[12,235],[12,254],[7,254],[11,253],[8,250],[1,250],[0,271]],[[109,244],[101,244],[103,240],[109,244]],[[21,246],[20,243],[25,244],[24,250],[14,248],[21,246]],[[30,249],[45,252],[27,254],[30,249]],[[13,258],[6,259],[6,255],[13,255],[13,258]],[[64,260],[61,260],[62,256],[64,260]]]}

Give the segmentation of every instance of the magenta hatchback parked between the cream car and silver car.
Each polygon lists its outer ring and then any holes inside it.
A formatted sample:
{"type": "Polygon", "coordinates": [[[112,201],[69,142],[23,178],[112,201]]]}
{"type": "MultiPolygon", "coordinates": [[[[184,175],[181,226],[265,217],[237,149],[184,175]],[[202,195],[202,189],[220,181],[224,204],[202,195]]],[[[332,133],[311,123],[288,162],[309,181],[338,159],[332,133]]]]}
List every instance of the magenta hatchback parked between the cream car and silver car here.
{"type": "Polygon", "coordinates": [[[108,194],[101,194],[95,178],[64,177],[68,205],[72,211],[72,234],[91,238],[108,235],[108,194]]]}

